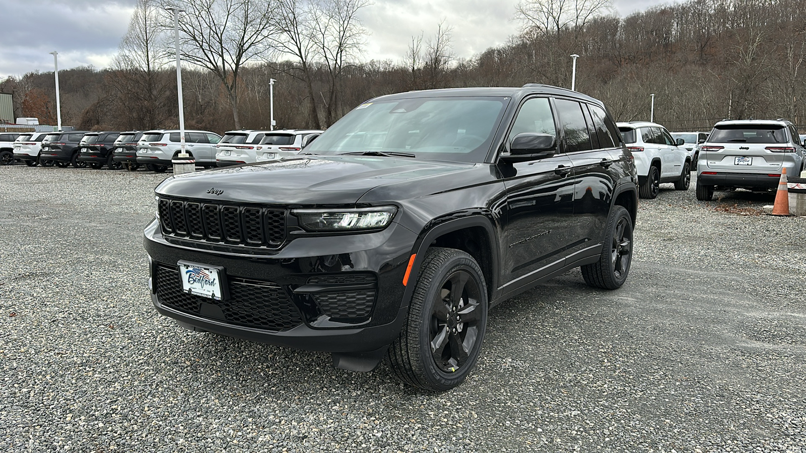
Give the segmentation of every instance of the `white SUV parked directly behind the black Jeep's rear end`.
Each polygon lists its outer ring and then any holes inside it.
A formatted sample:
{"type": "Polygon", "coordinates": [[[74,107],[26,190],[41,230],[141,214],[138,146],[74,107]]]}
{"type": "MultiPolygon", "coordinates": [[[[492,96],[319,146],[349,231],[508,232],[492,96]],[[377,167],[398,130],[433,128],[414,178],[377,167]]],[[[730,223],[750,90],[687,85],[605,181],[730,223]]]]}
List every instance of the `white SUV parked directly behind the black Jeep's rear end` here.
{"type": "Polygon", "coordinates": [[[634,121],[617,126],[635,158],[640,197],[657,197],[662,182],[673,182],[675,189],[688,190],[692,160],[683,148],[683,139],[675,141],[666,127],[657,123],[634,121]]]}

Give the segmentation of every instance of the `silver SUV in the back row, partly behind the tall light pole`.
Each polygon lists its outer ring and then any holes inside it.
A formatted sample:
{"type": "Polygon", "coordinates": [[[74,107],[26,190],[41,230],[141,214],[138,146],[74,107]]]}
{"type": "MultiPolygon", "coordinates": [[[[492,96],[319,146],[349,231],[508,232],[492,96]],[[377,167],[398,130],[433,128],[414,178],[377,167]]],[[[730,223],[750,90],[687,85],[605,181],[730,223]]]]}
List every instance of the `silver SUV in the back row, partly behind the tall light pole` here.
{"type": "MultiPolygon", "coordinates": [[[[215,145],[221,135],[210,131],[185,131],[185,148],[197,166],[215,167],[215,145]]],[[[164,172],[181,148],[178,130],[145,131],[137,142],[137,163],[164,172]]]]}

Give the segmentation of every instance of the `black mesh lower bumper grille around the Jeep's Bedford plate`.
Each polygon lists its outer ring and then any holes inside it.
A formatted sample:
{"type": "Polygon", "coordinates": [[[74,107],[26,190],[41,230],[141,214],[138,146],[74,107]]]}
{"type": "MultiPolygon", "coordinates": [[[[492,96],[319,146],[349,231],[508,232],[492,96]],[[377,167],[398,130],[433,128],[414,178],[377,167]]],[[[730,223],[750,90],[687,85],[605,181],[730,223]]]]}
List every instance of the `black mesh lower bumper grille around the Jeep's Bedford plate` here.
{"type": "Polygon", "coordinates": [[[214,301],[182,292],[178,268],[158,264],[156,295],[174,310],[238,326],[289,330],[302,318],[280,286],[264,281],[229,278],[230,300],[214,301]]]}

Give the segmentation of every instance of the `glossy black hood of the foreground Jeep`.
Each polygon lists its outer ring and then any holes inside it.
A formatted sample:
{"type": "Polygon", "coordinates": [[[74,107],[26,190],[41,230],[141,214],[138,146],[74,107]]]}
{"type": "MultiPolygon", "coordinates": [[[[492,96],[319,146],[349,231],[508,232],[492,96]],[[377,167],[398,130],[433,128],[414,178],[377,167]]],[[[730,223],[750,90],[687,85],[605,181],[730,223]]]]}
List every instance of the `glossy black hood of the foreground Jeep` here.
{"type": "MultiPolygon", "coordinates": [[[[474,164],[376,156],[310,156],[185,173],[156,187],[159,195],[282,205],[349,205],[369,190],[431,179],[474,164]]],[[[410,184],[406,186],[410,187],[410,184]]],[[[411,197],[413,193],[401,194],[411,197]]]]}

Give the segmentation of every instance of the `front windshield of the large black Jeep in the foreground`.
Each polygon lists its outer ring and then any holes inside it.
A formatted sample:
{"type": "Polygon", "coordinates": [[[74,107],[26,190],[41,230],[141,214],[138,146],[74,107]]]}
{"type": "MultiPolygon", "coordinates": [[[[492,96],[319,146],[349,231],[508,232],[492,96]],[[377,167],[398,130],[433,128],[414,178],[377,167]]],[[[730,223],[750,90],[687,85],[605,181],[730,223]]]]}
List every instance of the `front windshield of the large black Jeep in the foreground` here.
{"type": "Polygon", "coordinates": [[[483,162],[509,98],[409,98],[356,107],[305,148],[313,154],[405,153],[483,162]]]}

